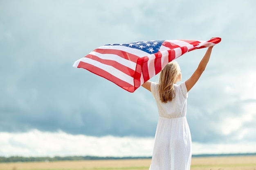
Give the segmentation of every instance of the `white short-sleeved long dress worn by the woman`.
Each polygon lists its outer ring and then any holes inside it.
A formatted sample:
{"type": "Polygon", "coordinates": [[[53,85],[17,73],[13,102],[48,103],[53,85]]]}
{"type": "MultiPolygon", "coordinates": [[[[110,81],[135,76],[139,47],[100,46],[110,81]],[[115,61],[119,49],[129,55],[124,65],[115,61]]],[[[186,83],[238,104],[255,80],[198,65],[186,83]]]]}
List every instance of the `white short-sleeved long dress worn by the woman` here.
{"type": "Polygon", "coordinates": [[[192,144],[186,120],[187,89],[185,83],[174,84],[175,97],[161,102],[159,84],[151,83],[151,92],[156,100],[159,120],[155,133],[150,170],[190,170],[192,144]]]}

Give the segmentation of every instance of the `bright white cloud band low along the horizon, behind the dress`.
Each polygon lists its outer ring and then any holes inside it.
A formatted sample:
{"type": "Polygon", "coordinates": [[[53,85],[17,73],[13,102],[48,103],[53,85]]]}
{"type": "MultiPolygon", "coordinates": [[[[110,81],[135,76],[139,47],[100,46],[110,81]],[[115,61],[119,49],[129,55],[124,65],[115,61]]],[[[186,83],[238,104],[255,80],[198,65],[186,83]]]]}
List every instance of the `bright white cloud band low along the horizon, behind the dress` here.
{"type": "MultiPolygon", "coordinates": [[[[62,131],[25,133],[0,132],[0,156],[152,156],[152,137],[92,137],[62,131]]],[[[193,142],[193,155],[220,153],[254,153],[256,142],[204,144],[193,142]]]]}

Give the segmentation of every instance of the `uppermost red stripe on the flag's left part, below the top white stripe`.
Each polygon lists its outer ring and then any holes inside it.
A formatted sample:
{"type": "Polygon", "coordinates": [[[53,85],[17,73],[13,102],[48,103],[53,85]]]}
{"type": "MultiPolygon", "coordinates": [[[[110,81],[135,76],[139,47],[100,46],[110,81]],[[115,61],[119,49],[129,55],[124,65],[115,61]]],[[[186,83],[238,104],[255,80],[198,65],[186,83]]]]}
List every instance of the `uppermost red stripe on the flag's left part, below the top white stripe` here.
{"type": "Polygon", "coordinates": [[[137,55],[131,54],[129,52],[125,52],[122,50],[113,50],[113,49],[95,49],[95,52],[99,52],[101,54],[115,54],[118,55],[119,57],[122,57],[124,59],[127,59],[129,61],[133,61],[135,63],[137,63],[137,60],[139,59],[139,57],[137,55]]]}

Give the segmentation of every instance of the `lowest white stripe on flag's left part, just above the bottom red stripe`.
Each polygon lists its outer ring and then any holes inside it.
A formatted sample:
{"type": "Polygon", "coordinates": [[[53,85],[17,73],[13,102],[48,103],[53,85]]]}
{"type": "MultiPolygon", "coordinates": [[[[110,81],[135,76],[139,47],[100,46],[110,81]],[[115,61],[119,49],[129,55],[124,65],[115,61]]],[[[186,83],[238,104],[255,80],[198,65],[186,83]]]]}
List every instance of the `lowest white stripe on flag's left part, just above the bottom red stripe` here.
{"type": "Polygon", "coordinates": [[[121,79],[122,81],[125,81],[126,83],[129,83],[130,85],[134,86],[133,77],[125,74],[124,72],[121,72],[120,70],[117,70],[116,68],[114,68],[110,65],[103,64],[99,61],[95,61],[95,60],[87,58],[87,57],[81,58],[80,61],[94,65],[94,67],[100,68],[102,70],[105,70],[106,72],[121,79]]]}

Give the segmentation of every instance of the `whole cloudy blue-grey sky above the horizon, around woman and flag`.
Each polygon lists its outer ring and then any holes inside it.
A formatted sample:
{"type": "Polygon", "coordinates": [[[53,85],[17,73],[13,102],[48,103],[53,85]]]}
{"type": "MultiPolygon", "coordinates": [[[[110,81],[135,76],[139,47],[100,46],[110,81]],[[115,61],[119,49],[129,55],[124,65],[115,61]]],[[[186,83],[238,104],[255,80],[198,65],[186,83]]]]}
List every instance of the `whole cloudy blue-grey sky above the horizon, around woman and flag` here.
{"type": "MultiPolygon", "coordinates": [[[[127,92],[73,63],[104,44],[211,37],[222,41],[187,99],[192,153],[256,153],[255,7],[255,0],[1,0],[0,156],[151,156],[152,94],[127,92]]],[[[205,52],[176,59],[182,81],[205,52]]]]}

